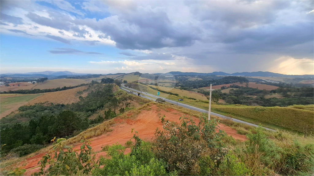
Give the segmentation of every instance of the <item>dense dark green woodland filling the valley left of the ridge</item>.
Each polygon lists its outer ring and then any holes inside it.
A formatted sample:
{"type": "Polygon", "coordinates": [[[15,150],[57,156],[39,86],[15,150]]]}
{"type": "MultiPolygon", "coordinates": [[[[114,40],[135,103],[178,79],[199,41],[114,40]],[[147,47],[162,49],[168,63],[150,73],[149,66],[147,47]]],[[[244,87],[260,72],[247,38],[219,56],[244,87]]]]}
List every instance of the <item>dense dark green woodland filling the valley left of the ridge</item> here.
{"type": "Polygon", "coordinates": [[[113,85],[110,84],[90,85],[86,91],[89,91],[86,97],[80,97],[79,102],[71,105],[21,106],[19,113],[1,119],[0,143],[6,144],[1,152],[9,152],[24,145],[27,147],[27,144],[47,144],[53,137],[68,138],[77,135],[93,124],[124,112],[124,106],[129,105],[130,97],[116,97],[113,85]],[[120,104],[122,107],[116,113],[120,104]],[[103,115],[93,120],[88,118],[104,107],[106,110],[103,115]]]}

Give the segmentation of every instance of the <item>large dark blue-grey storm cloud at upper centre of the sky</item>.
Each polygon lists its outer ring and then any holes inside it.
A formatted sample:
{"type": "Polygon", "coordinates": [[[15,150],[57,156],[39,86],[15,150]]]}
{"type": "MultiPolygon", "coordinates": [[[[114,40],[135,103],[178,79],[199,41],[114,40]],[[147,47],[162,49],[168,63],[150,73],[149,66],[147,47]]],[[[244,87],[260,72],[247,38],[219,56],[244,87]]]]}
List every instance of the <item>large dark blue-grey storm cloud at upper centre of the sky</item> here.
{"type": "Polygon", "coordinates": [[[193,23],[175,23],[163,8],[139,7],[134,13],[119,14],[98,22],[89,20],[89,24],[109,35],[120,49],[190,46],[200,39],[197,26],[193,23]]]}

